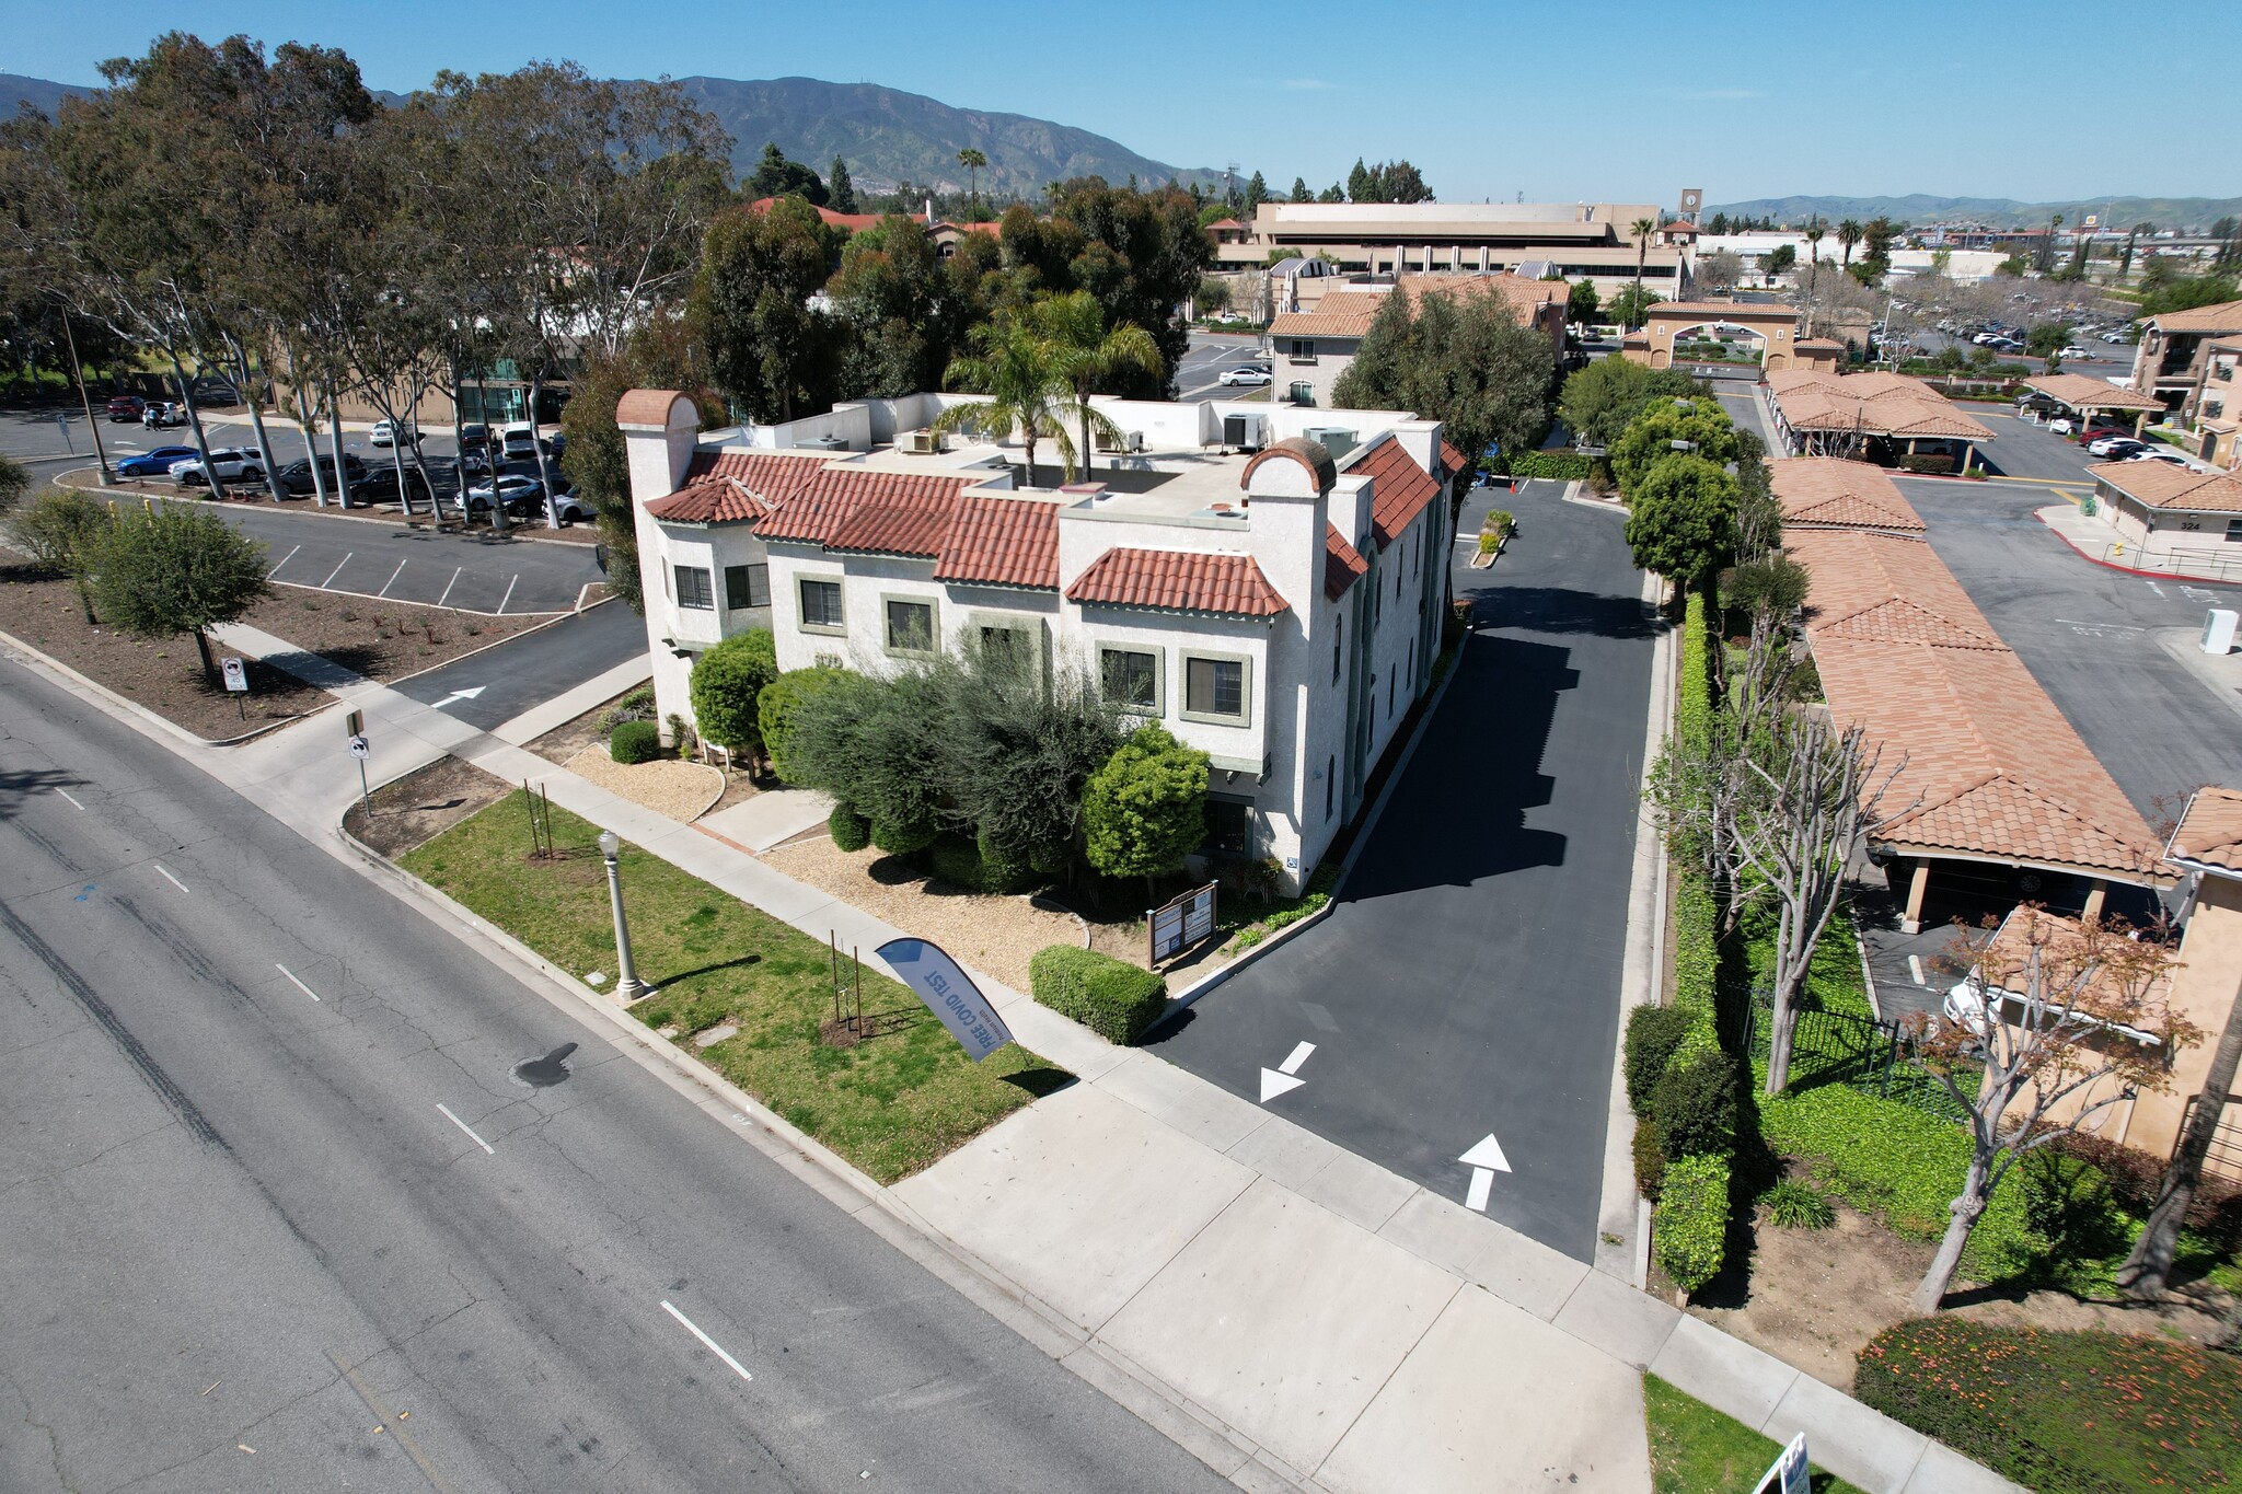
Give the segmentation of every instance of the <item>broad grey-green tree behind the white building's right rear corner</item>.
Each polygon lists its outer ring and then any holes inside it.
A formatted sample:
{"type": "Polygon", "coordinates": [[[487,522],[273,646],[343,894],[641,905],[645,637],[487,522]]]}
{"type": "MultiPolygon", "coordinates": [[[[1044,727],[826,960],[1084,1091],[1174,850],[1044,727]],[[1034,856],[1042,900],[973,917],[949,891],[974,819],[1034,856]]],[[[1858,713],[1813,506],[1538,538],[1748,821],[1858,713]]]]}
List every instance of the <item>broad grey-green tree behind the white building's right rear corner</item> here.
{"type": "Polygon", "coordinates": [[[1464,452],[1534,450],[1549,430],[1549,338],[1498,293],[1395,291],[1332,387],[1345,410],[1415,410],[1464,452]],[[1412,305],[1415,300],[1415,305],[1412,305]]]}

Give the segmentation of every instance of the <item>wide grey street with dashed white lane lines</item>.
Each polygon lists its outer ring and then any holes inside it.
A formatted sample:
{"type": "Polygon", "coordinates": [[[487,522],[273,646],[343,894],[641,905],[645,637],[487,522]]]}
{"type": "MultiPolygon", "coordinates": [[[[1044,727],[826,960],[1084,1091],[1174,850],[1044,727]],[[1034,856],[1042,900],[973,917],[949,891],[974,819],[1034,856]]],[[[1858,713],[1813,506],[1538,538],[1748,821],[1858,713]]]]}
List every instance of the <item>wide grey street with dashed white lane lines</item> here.
{"type": "Polygon", "coordinates": [[[1229,1487],[729,1120],[0,663],[0,1487],[1229,1487]]]}

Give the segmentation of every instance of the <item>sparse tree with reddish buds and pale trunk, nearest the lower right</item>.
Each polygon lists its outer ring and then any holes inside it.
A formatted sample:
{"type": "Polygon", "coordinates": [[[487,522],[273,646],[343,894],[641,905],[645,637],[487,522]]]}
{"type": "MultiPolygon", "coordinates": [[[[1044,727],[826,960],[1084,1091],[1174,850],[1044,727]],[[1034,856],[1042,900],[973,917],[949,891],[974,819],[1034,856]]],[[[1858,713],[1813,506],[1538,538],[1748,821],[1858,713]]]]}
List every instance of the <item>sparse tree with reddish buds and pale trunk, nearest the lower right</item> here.
{"type": "Polygon", "coordinates": [[[1960,1021],[1924,1037],[1924,1057],[1968,1111],[1971,1133],[1946,1236],[1908,1299],[1924,1315],[1937,1313],[2009,1169],[2139,1091],[2168,1089],[2172,1053],[2202,1037],[2170,1006],[2164,945],[2121,921],[2072,923],[2027,905],[1964,952],[1960,1021]],[[1964,1075],[1975,1075],[1975,1091],[1964,1075]]]}

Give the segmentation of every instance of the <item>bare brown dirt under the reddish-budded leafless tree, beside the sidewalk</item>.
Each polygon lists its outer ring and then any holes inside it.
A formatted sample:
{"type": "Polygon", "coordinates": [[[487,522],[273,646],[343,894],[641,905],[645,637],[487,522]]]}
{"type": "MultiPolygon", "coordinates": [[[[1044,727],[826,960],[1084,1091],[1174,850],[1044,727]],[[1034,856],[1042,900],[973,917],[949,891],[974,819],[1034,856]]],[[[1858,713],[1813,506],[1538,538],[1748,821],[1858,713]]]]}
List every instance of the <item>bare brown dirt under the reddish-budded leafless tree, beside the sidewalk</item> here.
{"type": "MultiPolygon", "coordinates": [[[[1861,1348],[1915,1317],[1908,1292],[1924,1279],[1935,1248],[1892,1234],[1841,1203],[1827,1230],[1778,1230],[1760,1210],[1753,1234],[1749,1281],[1724,1274],[1699,1292],[1704,1301],[1690,1301],[1688,1313],[1852,1393],[1861,1348]]],[[[2217,1297],[2132,1306],[2067,1292],[1964,1288],[1946,1297],[1944,1313],[2011,1328],[2103,1328],[2211,1344],[2224,1330],[2217,1297]]]]}

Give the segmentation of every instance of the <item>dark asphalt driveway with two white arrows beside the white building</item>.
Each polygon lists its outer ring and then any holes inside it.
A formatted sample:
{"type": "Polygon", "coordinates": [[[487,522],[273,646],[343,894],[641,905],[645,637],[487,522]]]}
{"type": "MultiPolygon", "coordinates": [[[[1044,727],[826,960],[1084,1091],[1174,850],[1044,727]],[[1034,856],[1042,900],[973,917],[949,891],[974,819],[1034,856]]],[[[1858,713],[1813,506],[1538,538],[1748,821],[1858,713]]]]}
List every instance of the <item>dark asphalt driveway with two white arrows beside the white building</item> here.
{"type": "MultiPolygon", "coordinates": [[[[1336,912],[1217,986],[1155,1051],[1249,1100],[1316,1053],[1280,1115],[1462,1201],[1493,1133],[1489,1214],[1596,1250],[1652,625],[1616,513],[1529,484],[1473,493],[1520,533],[1457,564],[1475,638],[1336,912]]],[[[1457,547],[1457,560],[1469,558],[1457,547]]]]}

